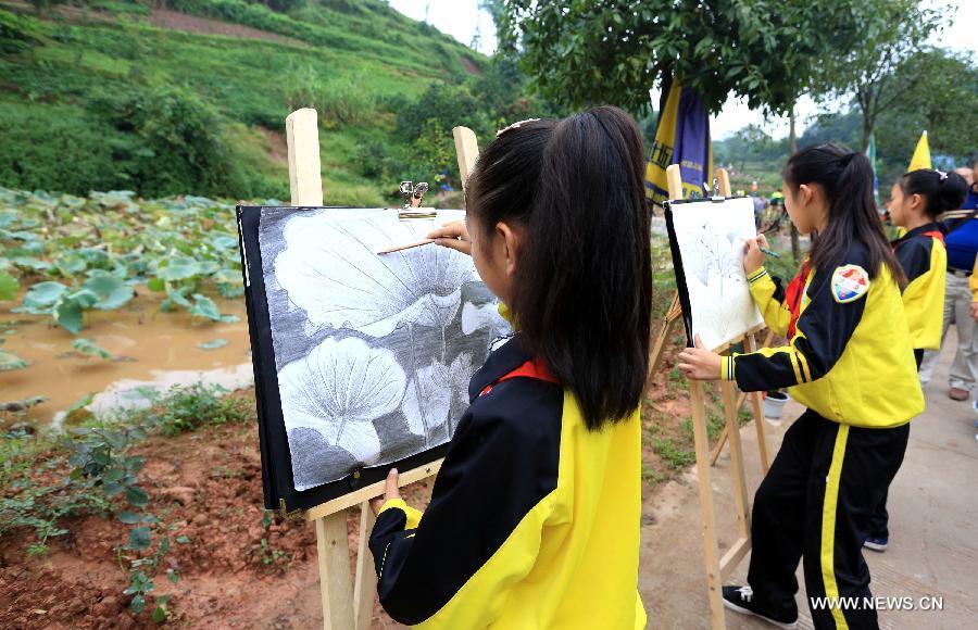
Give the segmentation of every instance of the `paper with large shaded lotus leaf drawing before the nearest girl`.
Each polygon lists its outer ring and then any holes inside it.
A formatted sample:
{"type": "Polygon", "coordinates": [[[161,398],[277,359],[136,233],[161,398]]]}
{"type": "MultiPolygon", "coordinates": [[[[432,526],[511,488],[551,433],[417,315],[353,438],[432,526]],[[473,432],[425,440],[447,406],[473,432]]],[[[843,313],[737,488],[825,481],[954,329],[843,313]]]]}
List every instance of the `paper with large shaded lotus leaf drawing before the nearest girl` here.
{"type": "Polygon", "coordinates": [[[415,242],[464,218],[263,209],[259,228],[296,490],[447,442],[468,380],[510,332],[472,259],[415,242]]]}

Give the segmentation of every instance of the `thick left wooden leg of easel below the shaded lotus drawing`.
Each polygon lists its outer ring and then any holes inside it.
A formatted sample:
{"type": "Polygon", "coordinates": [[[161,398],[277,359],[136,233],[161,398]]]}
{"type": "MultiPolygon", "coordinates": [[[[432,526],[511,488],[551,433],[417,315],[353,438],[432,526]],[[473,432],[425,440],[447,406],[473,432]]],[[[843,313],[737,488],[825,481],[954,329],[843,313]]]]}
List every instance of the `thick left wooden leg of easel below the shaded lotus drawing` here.
{"type": "Polygon", "coordinates": [[[353,596],[346,509],[316,519],[316,555],[319,594],[323,597],[323,628],[350,630],[353,628],[353,596]]]}

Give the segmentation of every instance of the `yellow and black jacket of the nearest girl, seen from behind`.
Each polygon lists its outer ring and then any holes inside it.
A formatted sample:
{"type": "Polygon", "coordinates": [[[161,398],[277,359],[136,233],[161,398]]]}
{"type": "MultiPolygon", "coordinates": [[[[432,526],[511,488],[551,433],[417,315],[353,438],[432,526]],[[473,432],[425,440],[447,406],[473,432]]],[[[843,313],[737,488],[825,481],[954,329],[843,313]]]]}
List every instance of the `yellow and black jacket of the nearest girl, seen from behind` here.
{"type": "Polygon", "coordinates": [[[638,411],[589,431],[517,335],[469,383],[431,502],[381,507],[380,604],[422,628],[644,628],[638,411]]]}

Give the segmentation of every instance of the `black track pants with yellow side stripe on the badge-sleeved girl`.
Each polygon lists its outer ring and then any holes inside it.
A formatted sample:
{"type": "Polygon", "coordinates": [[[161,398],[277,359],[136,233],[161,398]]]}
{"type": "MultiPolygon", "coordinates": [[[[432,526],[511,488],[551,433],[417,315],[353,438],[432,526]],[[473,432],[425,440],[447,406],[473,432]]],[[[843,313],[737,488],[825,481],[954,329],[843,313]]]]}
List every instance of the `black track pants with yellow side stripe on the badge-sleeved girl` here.
{"type": "Polygon", "coordinates": [[[794,571],[804,557],[805,591],[815,628],[878,628],[863,605],[869,568],[863,542],[870,517],[896,475],[910,425],[865,429],[808,410],[785,440],[754,496],[748,582],[754,598],[797,610],[794,571]],[[856,597],[855,608],[817,607],[816,597],[856,597]]]}

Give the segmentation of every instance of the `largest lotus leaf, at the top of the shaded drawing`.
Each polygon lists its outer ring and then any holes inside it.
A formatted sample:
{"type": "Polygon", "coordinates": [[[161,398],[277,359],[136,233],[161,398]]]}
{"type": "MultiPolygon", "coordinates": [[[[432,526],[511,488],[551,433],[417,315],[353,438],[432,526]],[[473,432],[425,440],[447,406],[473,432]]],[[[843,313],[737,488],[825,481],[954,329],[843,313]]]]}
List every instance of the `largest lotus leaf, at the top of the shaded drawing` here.
{"type": "Polygon", "coordinates": [[[294,217],[284,230],[275,273],[314,328],[352,328],[371,337],[401,325],[444,328],[459,312],[462,285],[477,279],[472,260],[441,247],[376,253],[423,237],[409,222],[294,217]]]}

